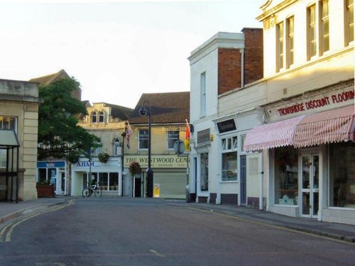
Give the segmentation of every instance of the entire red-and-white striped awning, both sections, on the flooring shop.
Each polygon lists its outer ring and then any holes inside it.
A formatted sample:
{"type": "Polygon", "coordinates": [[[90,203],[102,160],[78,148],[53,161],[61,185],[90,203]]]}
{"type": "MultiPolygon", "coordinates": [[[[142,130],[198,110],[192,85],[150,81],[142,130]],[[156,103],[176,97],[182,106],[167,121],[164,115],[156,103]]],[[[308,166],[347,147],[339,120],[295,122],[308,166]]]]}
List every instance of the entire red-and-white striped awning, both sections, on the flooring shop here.
{"type": "Polygon", "coordinates": [[[256,126],[246,134],[244,150],[263,150],[287,145],[302,148],[355,141],[354,113],[354,106],[346,106],[256,126]]]}

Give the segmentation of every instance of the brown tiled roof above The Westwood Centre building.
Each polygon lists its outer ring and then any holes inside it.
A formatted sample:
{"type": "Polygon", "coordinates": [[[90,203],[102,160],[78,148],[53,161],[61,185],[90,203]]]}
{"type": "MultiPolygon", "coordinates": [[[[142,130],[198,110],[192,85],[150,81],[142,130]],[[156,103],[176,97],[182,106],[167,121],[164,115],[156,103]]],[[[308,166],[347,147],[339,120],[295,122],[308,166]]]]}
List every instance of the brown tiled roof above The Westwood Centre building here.
{"type": "Polygon", "coordinates": [[[143,103],[151,108],[151,123],[185,123],[190,118],[190,92],[142,94],[129,123],[147,123],[147,118],[138,113],[143,103]]]}

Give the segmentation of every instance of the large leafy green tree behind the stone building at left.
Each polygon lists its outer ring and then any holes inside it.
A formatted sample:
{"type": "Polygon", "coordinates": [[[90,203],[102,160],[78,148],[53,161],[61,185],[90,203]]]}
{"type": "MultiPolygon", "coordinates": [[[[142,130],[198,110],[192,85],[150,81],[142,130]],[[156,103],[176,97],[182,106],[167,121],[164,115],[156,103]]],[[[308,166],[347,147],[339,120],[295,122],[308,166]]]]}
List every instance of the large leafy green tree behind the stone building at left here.
{"type": "Polygon", "coordinates": [[[38,109],[38,160],[56,157],[77,162],[80,155],[97,148],[97,136],[77,125],[80,115],[87,115],[84,104],[71,95],[79,88],[74,78],[39,88],[43,103],[38,109]]]}

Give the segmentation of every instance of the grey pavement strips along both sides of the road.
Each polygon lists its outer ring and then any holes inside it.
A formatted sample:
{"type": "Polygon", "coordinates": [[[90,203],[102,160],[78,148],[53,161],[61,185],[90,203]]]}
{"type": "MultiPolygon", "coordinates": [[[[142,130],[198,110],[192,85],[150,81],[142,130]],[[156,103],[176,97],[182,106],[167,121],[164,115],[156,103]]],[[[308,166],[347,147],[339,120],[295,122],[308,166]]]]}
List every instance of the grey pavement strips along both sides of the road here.
{"type": "MultiPolygon", "coordinates": [[[[120,198],[118,198],[118,200],[119,199],[120,198]]],[[[24,216],[29,213],[35,213],[36,211],[40,211],[48,206],[65,204],[69,200],[75,200],[75,197],[58,196],[54,198],[38,198],[32,201],[18,201],[18,204],[14,202],[0,201],[0,227],[1,223],[5,223],[13,218],[24,216]]],[[[273,214],[268,211],[229,204],[197,204],[186,203],[185,201],[179,200],[170,200],[168,201],[168,204],[199,209],[202,211],[211,211],[217,214],[232,216],[244,221],[250,221],[252,223],[285,228],[288,230],[300,231],[314,235],[322,235],[327,238],[334,238],[337,240],[355,243],[355,226],[347,224],[329,223],[310,218],[283,216],[280,214],[273,214]]]]}

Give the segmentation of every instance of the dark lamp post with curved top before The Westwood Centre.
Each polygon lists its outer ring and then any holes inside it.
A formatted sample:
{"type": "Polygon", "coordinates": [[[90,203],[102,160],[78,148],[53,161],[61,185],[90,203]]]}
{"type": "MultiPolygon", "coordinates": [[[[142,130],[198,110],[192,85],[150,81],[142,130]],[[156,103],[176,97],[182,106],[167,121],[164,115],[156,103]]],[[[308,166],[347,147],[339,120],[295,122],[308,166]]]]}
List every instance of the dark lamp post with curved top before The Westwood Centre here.
{"type": "Polygon", "coordinates": [[[144,101],[141,109],[138,111],[140,116],[148,114],[148,168],[147,168],[147,197],[153,197],[153,170],[151,168],[151,104],[144,101]],[[148,109],[146,104],[148,104],[148,109]]]}

